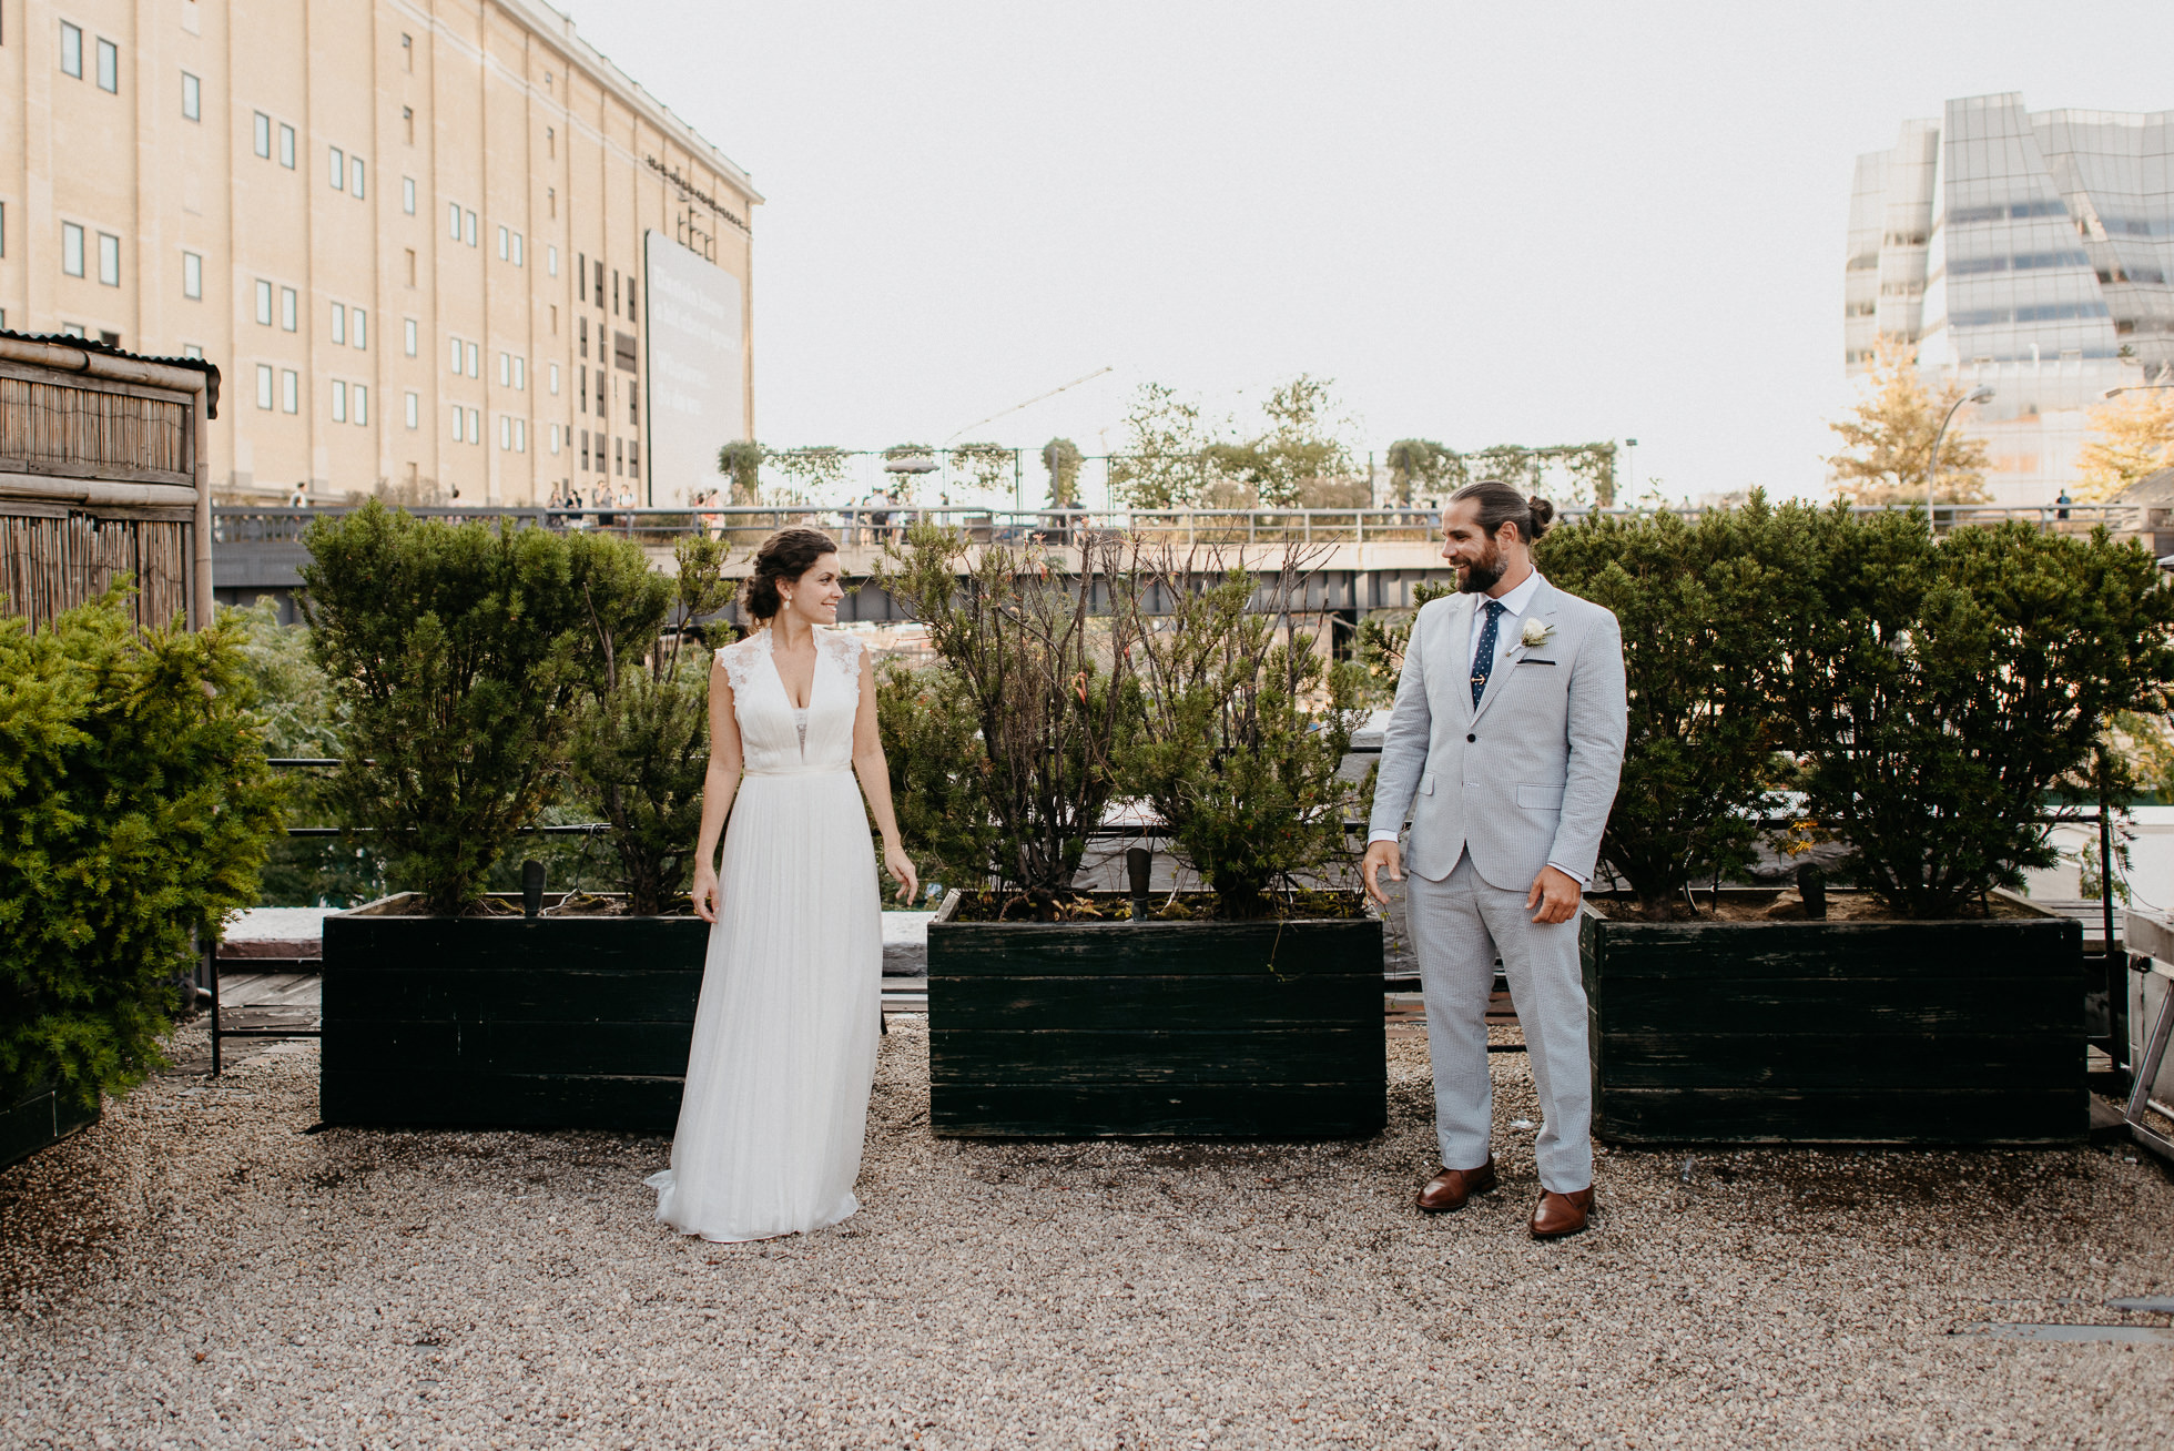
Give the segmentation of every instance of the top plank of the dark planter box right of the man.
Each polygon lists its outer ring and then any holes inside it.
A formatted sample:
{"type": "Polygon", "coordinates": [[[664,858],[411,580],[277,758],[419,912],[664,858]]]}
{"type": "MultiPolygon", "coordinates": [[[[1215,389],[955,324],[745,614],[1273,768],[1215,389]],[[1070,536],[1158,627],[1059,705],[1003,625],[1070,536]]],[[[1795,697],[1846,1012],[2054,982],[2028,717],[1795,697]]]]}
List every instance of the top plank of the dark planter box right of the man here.
{"type": "Polygon", "coordinates": [[[1991,922],[1604,922],[1609,979],[1972,977],[2031,979],[2078,970],[2070,918],[1991,922]]]}

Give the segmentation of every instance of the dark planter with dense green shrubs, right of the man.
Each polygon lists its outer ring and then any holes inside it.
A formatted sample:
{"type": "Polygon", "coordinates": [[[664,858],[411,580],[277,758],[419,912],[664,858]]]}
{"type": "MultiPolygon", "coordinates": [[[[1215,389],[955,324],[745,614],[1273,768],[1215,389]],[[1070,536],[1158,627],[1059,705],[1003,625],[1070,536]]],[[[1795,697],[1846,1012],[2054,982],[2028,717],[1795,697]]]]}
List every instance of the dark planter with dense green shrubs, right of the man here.
{"type": "Polygon", "coordinates": [[[2050,796],[2091,759],[2107,716],[2174,681],[2174,598],[2150,557],[2102,533],[1961,529],[1933,544],[1922,513],[1757,505],[1689,531],[1641,520],[1561,533],[1544,568],[1624,620],[1633,692],[1604,846],[1633,892],[1589,898],[1583,927],[1596,1131],[2078,1138],[2081,927],[2013,888],[2050,859],[2050,796]],[[1737,613],[1772,644],[1731,642],[1737,613]],[[1717,666],[1707,677],[1670,664],[1702,653],[1717,666]],[[1702,705],[1661,709],[1672,696],[1702,705]],[[1754,718],[1791,751],[1781,774],[1754,766],[1754,718]],[[1707,794],[1728,820],[1678,829],[1704,835],[1704,859],[1639,848],[1644,822],[1687,794],[1670,737],[1715,746],[1707,794]],[[1794,787],[1800,820],[1848,846],[1835,879],[1854,894],[1807,890],[1776,909],[1772,892],[1685,890],[1741,861],[1744,818],[1772,785],[1794,787]]]}

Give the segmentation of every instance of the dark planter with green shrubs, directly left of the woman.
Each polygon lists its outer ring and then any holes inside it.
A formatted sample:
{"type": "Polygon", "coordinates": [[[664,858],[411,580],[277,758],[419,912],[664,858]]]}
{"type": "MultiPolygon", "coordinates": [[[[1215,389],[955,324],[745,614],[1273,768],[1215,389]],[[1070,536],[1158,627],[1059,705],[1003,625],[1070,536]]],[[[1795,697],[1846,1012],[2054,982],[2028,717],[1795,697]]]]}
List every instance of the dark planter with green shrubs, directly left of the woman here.
{"type": "MultiPolygon", "coordinates": [[[[324,1120],[670,1129],[702,925],[565,920],[541,914],[554,898],[530,914],[485,888],[561,790],[598,694],[591,783],[617,787],[644,842],[672,816],[691,742],[667,698],[678,677],[639,672],[644,700],[626,694],[672,583],[622,537],[374,503],[317,520],[309,548],[313,648],[348,707],[328,792],[415,888],[324,922],[324,1120]],[[641,805],[646,779],[609,764],[624,755],[609,742],[637,729],[680,753],[663,764],[661,809],[641,805]]],[[[672,864],[630,851],[628,877],[663,894],[672,864]]]]}

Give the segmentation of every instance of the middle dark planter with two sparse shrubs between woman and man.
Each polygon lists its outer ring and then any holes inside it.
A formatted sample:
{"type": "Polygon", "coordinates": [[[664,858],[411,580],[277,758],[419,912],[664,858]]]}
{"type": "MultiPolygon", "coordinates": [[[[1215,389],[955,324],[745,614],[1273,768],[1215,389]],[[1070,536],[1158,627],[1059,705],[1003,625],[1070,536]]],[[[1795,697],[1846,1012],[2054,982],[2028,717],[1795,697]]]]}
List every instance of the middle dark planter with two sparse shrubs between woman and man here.
{"type": "Polygon", "coordinates": [[[959,803],[935,855],[994,883],[948,896],[928,929],[935,1131],[1378,1131],[1380,925],[1354,892],[1291,881],[1348,851],[1335,772],[1359,690],[1278,640],[1296,568],[1248,613],[1244,574],[1115,544],[1076,572],[989,548],[965,590],[961,555],[917,533],[887,581],[944,657],[917,696],[924,755],[980,746],[950,774],[980,801],[959,803]],[[946,698],[972,733],[933,724],[946,698]],[[1163,816],[1209,892],[1135,918],[1072,890],[1120,794],[1163,816]]]}

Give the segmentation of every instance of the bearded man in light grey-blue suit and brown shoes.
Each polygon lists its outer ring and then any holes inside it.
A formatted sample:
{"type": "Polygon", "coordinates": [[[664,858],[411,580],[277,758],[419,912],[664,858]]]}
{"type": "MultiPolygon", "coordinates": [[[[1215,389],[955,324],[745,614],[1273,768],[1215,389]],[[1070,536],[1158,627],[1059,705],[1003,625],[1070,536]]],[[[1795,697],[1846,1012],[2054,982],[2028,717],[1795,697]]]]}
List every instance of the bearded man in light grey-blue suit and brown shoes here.
{"type": "Polygon", "coordinates": [[[1594,1081],[1585,1049],[1578,896],[1624,759],[1624,650],[1615,616],[1533,570],[1554,507],[1494,479],[1450,496],[1441,557],[1457,594],[1411,622],[1380,742],[1365,888],[1404,881],[1426,994],[1441,1173],[1420,1210],[1496,1188],[1487,994],[1502,957],[1544,1125],[1533,1238],[1585,1229],[1594,1207],[1594,1081]]]}

